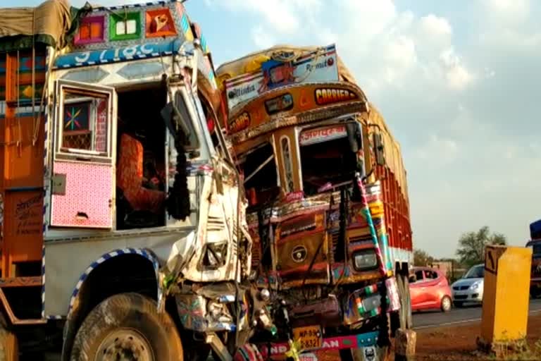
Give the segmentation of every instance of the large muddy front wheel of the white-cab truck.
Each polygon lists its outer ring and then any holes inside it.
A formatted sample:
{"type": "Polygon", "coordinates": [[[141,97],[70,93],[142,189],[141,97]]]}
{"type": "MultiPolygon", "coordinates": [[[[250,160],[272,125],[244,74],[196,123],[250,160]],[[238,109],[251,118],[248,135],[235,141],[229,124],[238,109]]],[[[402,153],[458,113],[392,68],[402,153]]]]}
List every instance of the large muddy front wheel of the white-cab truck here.
{"type": "Polygon", "coordinates": [[[122,293],[94,307],[77,331],[73,361],[182,361],[173,319],[158,313],[154,300],[122,293]]]}

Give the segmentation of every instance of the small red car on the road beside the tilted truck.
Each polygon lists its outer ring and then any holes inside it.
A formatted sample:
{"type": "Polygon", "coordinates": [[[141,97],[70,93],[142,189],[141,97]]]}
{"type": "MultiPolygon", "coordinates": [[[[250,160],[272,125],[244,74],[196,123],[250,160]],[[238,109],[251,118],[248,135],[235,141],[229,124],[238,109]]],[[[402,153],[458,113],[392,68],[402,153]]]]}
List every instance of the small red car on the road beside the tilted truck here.
{"type": "Polygon", "coordinates": [[[437,269],[413,267],[409,276],[411,310],[451,310],[451,287],[447,277],[437,269]]]}

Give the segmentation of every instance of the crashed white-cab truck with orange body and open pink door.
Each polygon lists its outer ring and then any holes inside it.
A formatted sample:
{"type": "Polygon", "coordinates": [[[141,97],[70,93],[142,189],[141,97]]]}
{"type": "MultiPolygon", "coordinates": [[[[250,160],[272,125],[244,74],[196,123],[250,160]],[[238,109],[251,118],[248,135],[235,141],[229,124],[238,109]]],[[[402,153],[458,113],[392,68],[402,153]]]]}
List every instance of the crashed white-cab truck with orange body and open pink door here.
{"type": "Polygon", "coordinates": [[[272,334],[220,102],[182,1],[0,9],[0,360],[232,360],[272,334]]]}

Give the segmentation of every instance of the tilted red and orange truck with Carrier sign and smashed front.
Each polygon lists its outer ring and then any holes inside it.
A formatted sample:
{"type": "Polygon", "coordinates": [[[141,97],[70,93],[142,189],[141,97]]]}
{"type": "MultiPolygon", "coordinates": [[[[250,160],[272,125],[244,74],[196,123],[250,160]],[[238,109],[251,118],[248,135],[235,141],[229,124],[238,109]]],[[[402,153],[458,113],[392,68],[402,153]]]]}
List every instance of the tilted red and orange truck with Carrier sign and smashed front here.
{"type": "Polygon", "coordinates": [[[277,46],[223,64],[226,140],[247,193],[253,277],[278,327],[261,353],[380,360],[411,328],[399,144],[328,47],[277,46]],[[280,306],[282,305],[282,306],[280,306]]]}

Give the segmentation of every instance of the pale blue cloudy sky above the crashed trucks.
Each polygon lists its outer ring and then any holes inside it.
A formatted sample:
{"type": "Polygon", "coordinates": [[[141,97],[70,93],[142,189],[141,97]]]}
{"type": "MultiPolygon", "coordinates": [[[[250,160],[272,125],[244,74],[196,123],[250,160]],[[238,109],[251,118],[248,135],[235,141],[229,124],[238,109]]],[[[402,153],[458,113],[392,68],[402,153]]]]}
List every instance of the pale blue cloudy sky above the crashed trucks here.
{"type": "MultiPolygon", "coordinates": [[[[137,1],[96,1],[123,2],[137,1]]],[[[186,6],[216,66],[274,44],[336,44],[402,146],[414,247],[453,257],[460,235],[485,225],[511,245],[525,245],[528,225],[541,219],[541,1],[189,0],[186,6]]]]}

